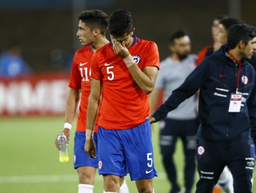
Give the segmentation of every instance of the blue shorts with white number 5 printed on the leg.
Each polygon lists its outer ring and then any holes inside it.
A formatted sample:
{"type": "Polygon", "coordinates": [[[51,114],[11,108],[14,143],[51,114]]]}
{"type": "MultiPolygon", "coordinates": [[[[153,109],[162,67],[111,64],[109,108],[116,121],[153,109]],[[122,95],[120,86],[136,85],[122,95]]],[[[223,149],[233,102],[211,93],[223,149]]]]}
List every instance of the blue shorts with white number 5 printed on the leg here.
{"type": "Polygon", "coordinates": [[[158,176],[154,168],[149,121],[127,130],[98,130],[99,174],[126,176],[132,181],[158,176]]]}

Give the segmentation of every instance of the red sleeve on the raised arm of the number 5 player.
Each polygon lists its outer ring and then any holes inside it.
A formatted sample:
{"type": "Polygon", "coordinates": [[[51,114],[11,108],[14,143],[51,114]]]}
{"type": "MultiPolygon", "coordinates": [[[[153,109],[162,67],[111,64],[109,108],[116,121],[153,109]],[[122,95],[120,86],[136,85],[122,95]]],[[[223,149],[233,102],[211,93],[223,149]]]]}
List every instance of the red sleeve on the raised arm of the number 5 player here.
{"type": "Polygon", "coordinates": [[[146,50],[146,53],[147,55],[145,57],[145,66],[156,66],[156,68],[158,68],[159,70],[159,52],[156,43],[150,42],[146,50]]]}

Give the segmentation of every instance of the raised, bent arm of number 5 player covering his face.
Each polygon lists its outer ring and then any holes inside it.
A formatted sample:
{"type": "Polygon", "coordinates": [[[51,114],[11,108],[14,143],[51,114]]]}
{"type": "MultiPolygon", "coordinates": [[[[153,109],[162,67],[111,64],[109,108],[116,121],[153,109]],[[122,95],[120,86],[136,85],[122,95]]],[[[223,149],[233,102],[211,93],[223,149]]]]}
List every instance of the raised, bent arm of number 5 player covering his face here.
{"type": "Polygon", "coordinates": [[[140,70],[133,57],[131,57],[129,50],[125,47],[125,42],[120,43],[115,39],[112,39],[112,41],[114,52],[125,61],[134,81],[145,94],[151,93],[154,90],[154,85],[156,83],[158,68],[155,66],[145,66],[143,70],[140,70]]]}

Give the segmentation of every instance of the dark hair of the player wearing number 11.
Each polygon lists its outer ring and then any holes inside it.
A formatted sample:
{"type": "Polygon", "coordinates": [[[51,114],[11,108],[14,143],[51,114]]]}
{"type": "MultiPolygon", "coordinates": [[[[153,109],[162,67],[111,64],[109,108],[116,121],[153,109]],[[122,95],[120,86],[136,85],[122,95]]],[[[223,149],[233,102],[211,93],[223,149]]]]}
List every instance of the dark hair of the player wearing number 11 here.
{"type": "Polygon", "coordinates": [[[80,12],[78,19],[86,23],[91,30],[98,28],[103,35],[106,33],[109,24],[109,17],[102,10],[85,10],[80,12]]]}

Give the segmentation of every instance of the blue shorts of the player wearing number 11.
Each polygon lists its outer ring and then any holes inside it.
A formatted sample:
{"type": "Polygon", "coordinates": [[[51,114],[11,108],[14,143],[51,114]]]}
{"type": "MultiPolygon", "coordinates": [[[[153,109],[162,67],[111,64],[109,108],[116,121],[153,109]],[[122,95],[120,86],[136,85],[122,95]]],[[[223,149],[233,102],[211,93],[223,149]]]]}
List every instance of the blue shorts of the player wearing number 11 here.
{"type": "MultiPolygon", "coordinates": [[[[98,152],[98,134],[94,133],[93,139],[96,146],[96,153],[98,152]]],[[[85,132],[75,132],[75,145],[74,145],[74,168],[82,166],[98,167],[98,159],[90,158],[85,150],[85,132]]]]}

